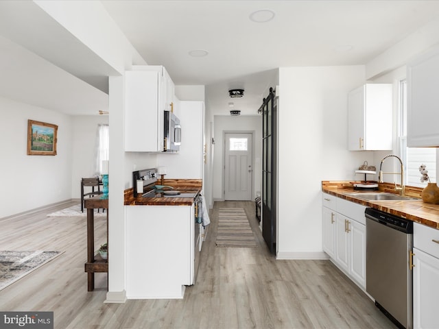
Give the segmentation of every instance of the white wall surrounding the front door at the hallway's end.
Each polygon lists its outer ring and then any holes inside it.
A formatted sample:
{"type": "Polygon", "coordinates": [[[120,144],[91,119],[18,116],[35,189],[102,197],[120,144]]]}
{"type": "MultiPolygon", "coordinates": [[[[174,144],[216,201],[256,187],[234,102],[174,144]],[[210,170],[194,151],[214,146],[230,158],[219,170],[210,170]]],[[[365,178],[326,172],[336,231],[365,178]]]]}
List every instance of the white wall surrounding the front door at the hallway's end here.
{"type": "Polygon", "coordinates": [[[252,199],[256,197],[256,191],[261,191],[261,157],[262,157],[262,117],[246,115],[242,117],[215,115],[214,138],[215,154],[213,155],[213,199],[224,200],[224,132],[254,132],[253,140],[253,182],[252,199]]]}

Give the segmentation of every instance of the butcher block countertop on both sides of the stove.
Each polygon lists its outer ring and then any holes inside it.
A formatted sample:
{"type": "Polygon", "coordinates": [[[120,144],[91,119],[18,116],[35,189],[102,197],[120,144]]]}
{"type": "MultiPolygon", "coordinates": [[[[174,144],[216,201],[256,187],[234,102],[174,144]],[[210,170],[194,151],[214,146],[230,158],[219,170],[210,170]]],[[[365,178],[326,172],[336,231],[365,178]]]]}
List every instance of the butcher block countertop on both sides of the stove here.
{"type": "MultiPolygon", "coordinates": [[[[200,193],[202,180],[163,180],[160,185],[172,186],[174,190],[185,193],[200,193]]],[[[133,188],[123,191],[123,204],[125,206],[191,206],[192,197],[134,197],[133,188]]]]}

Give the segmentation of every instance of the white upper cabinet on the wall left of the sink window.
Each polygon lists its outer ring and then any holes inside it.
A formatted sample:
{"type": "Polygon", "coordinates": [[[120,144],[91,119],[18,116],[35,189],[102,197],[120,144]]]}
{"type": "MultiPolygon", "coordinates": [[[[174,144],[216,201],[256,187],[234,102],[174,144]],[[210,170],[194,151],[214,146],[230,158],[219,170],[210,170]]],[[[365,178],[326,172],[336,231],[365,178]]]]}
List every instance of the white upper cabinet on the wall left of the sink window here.
{"type": "Polygon", "coordinates": [[[348,149],[392,149],[392,84],[365,84],[348,94],[348,149]]]}

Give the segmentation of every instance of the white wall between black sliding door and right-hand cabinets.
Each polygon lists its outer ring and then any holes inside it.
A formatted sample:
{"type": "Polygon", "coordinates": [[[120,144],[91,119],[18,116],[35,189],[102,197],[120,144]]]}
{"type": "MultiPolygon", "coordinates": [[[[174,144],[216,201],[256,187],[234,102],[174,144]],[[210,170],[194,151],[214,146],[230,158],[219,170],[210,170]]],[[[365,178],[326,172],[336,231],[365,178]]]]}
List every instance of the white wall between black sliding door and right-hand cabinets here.
{"type": "Polygon", "coordinates": [[[372,152],[348,151],[347,95],[364,66],[279,69],[278,258],[320,258],[322,180],[353,180],[372,152]]]}

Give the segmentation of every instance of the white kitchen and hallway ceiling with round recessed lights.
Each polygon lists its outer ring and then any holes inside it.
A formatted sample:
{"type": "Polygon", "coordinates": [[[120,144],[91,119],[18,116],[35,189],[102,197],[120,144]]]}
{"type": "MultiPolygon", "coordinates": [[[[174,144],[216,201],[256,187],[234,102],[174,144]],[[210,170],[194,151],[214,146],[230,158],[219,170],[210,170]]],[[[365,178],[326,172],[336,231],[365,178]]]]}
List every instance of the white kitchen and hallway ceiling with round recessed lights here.
{"type": "MultiPolygon", "coordinates": [[[[102,1],[148,64],[176,84],[205,84],[209,106],[256,114],[280,66],[366,64],[439,17],[439,1],[102,1]],[[250,21],[257,10],[267,23],[250,21]],[[350,45],[351,51],[340,51],[350,45]],[[204,49],[209,55],[189,56],[204,49]],[[230,99],[230,88],[244,88],[230,99]]],[[[274,87],[274,86],[273,86],[274,87]]]]}

